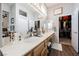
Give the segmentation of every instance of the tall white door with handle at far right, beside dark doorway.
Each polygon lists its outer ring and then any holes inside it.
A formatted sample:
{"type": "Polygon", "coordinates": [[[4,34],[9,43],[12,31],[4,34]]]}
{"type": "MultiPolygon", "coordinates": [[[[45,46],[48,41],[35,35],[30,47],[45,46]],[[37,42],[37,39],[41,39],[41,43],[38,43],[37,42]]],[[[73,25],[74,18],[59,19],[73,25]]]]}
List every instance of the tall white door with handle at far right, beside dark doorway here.
{"type": "Polygon", "coordinates": [[[73,6],[73,15],[72,15],[72,46],[78,52],[78,11],[79,4],[74,4],[73,6]]]}

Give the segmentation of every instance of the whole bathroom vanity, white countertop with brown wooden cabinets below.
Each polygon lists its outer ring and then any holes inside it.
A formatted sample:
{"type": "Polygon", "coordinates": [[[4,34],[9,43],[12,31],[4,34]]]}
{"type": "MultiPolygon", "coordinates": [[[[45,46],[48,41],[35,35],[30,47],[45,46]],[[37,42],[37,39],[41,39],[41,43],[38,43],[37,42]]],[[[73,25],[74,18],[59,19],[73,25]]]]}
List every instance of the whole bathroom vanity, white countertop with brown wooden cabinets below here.
{"type": "Polygon", "coordinates": [[[48,42],[53,41],[53,31],[46,32],[41,37],[29,37],[10,43],[1,48],[4,56],[46,56],[48,42]]]}

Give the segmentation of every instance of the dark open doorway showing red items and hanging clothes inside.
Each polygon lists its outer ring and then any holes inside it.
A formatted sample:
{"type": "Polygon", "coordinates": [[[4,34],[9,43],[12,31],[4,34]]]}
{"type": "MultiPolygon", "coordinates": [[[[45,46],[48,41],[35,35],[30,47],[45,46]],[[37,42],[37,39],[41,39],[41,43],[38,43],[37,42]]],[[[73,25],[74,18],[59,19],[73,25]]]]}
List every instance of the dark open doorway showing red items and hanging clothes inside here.
{"type": "Polygon", "coordinates": [[[59,42],[71,45],[71,15],[59,17],[59,42]]]}

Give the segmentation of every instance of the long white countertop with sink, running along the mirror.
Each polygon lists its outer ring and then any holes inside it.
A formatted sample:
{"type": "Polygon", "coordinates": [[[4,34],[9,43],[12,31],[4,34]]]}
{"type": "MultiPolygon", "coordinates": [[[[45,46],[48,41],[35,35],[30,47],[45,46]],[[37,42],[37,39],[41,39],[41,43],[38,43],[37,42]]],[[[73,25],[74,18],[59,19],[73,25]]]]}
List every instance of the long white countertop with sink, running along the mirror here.
{"type": "Polygon", "coordinates": [[[13,44],[10,43],[0,49],[4,56],[22,56],[31,51],[53,33],[53,31],[46,32],[42,37],[33,36],[19,42],[14,42],[13,44]]]}

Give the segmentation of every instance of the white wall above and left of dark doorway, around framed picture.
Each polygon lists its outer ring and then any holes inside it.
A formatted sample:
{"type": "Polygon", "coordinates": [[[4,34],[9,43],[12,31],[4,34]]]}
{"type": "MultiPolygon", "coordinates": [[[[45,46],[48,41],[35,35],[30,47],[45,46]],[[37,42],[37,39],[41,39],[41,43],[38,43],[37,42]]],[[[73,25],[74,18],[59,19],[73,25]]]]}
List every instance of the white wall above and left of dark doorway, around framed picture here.
{"type": "Polygon", "coordinates": [[[56,27],[56,36],[57,36],[57,42],[59,42],[59,16],[64,16],[64,15],[72,15],[73,11],[73,4],[57,4],[56,6],[49,8],[48,9],[48,20],[53,21],[53,26],[56,27]],[[63,13],[60,15],[54,15],[54,10],[57,8],[63,8],[63,13]]]}

